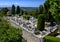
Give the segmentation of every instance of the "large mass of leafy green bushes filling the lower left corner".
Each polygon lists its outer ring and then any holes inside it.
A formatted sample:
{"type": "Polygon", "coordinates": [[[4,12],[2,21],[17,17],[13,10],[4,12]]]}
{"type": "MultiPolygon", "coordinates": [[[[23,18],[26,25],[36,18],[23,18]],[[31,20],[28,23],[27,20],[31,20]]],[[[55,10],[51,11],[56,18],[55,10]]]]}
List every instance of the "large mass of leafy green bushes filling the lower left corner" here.
{"type": "Polygon", "coordinates": [[[0,42],[23,42],[22,30],[0,21],[0,42]]]}

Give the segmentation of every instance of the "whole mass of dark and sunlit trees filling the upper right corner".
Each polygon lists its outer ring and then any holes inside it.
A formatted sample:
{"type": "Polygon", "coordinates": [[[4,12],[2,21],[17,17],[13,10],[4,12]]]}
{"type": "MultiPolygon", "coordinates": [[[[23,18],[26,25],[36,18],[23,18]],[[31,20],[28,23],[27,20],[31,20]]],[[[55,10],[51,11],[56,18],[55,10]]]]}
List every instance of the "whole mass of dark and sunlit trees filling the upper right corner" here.
{"type": "Polygon", "coordinates": [[[45,14],[47,15],[46,20],[53,23],[56,21],[60,24],[60,0],[46,0],[44,3],[45,14]]]}

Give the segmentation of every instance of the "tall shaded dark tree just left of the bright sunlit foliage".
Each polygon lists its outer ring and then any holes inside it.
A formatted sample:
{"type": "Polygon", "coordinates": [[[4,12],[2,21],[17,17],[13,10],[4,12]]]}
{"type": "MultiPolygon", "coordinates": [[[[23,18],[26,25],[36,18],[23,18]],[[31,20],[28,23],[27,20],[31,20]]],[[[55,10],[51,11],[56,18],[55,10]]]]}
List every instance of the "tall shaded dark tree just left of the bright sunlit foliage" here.
{"type": "Polygon", "coordinates": [[[46,2],[44,3],[44,14],[46,14],[46,21],[51,22],[51,24],[53,25],[53,22],[55,20],[54,20],[52,13],[50,11],[50,7],[51,7],[50,1],[51,0],[46,0],[46,2]]]}

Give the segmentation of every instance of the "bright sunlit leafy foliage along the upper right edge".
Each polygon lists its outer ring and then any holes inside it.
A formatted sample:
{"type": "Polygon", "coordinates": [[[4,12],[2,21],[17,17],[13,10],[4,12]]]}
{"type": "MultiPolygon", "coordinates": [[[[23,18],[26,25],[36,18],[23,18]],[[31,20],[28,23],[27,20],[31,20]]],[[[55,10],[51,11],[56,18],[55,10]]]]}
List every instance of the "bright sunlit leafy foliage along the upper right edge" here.
{"type": "Polygon", "coordinates": [[[55,19],[55,21],[60,24],[60,0],[49,0],[50,8],[49,11],[55,19]]]}

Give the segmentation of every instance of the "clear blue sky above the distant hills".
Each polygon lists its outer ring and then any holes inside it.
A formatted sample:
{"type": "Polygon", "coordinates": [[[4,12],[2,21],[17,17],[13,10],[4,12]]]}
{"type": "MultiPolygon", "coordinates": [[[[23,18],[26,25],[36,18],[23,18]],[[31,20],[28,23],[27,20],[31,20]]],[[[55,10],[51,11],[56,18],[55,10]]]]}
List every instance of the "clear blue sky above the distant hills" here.
{"type": "Polygon", "coordinates": [[[0,7],[11,7],[13,4],[20,7],[39,7],[45,0],[0,0],[0,7]]]}

